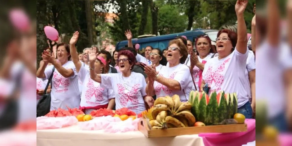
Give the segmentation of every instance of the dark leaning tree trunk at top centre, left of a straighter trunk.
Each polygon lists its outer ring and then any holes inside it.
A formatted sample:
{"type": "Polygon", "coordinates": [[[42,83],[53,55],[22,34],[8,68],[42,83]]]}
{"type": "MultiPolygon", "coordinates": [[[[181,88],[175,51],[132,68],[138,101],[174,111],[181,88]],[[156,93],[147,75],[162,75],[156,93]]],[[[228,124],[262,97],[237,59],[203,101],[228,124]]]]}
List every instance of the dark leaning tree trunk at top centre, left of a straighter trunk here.
{"type": "Polygon", "coordinates": [[[138,35],[143,35],[147,25],[147,15],[149,10],[149,1],[142,1],[141,22],[138,30],[138,35]]]}

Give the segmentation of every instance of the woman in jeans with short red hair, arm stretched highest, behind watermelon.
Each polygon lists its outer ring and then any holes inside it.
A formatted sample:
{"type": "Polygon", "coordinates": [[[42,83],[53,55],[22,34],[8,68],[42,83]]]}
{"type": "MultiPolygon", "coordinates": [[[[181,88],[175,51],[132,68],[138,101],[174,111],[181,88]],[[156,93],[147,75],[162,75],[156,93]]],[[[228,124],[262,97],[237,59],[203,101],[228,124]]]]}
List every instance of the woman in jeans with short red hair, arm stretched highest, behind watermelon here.
{"type": "Polygon", "coordinates": [[[220,30],[217,34],[216,47],[218,56],[208,60],[203,71],[201,91],[205,84],[212,92],[237,93],[238,113],[244,114],[247,119],[253,116],[251,104],[248,102],[250,88],[244,84],[246,80],[246,60],[248,58],[247,30],[244,20],[244,11],[248,1],[237,1],[235,11],[238,21],[236,34],[228,29],[220,30]]]}

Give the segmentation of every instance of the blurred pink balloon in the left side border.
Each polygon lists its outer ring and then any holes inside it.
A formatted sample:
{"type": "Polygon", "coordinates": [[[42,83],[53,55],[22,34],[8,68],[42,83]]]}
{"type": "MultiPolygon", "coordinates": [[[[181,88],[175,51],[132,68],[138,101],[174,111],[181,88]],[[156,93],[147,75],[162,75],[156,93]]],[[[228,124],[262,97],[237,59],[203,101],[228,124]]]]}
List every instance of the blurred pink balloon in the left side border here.
{"type": "Polygon", "coordinates": [[[21,9],[11,10],[9,13],[9,18],[12,25],[20,31],[26,31],[29,29],[30,21],[25,11],[21,9]]]}

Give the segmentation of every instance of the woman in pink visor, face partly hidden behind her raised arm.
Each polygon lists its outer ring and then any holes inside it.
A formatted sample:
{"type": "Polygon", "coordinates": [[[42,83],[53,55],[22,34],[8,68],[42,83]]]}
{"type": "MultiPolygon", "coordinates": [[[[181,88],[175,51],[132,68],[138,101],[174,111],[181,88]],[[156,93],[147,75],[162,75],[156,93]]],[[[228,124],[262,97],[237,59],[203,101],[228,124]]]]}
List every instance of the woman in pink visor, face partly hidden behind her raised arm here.
{"type": "MultiPolygon", "coordinates": [[[[85,114],[90,114],[93,110],[100,108],[113,109],[114,108],[114,92],[111,89],[103,88],[100,83],[93,81],[90,78],[90,72],[87,67],[81,63],[78,57],[77,49],[75,44],[77,43],[79,32],[75,32],[70,40],[70,54],[72,61],[76,67],[78,77],[83,83],[80,109],[85,114]]],[[[96,52],[96,48],[93,48],[96,52]]],[[[93,52],[93,50],[91,50],[93,52]]],[[[98,57],[94,62],[94,71],[96,74],[105,73],[104,67],[106,65],[105,59],[98,57]]]]}

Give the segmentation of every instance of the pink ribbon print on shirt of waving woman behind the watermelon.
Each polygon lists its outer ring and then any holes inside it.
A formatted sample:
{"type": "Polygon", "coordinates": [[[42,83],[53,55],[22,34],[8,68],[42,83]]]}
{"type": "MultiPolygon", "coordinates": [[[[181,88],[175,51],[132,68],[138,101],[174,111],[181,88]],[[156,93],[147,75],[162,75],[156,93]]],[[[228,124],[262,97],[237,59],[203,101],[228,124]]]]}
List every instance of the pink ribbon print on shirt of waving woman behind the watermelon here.
{"type": "Polygon", "coordinates": [[[208,70],[206,72],[206,80],[205,82],[208,83],[209,85],[215,84],[215,89],[212,89],[209,91],[213,92],[213,91],[221,91],[221,86],[223,85],[224,82],[224,75],[223,75],[223,71],[225,69],[225,64],[227,62],[230,61],[231,58],[228,58],[227,60],[225,60],[214,72],[213,70],[213,66],[209,66],[208,70]]]}

